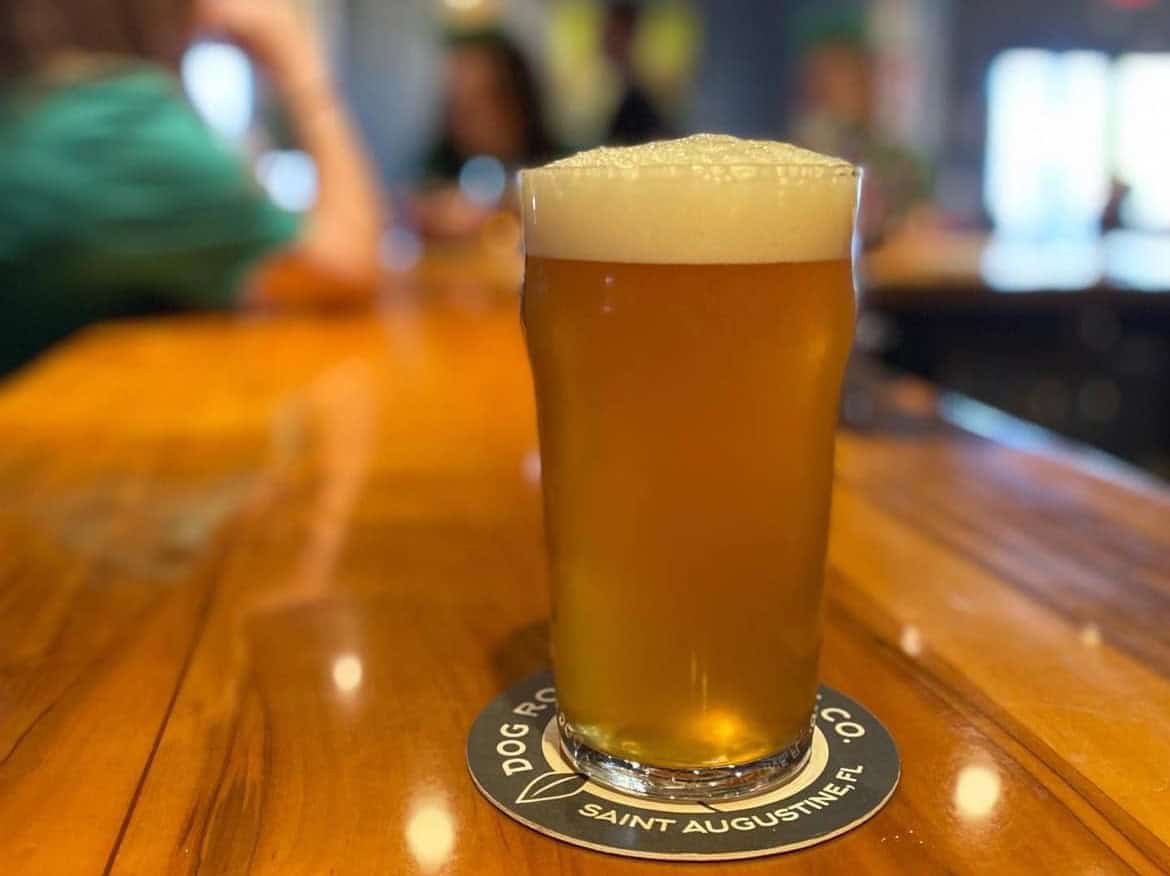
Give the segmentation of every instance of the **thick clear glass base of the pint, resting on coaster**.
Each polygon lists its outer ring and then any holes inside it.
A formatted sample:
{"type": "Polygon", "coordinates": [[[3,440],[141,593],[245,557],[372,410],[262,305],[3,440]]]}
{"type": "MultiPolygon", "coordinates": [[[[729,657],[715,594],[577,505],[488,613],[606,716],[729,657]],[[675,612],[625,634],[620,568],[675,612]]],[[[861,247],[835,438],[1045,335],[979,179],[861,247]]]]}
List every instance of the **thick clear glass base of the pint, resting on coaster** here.
{"type": "Polygon", "coordinates": [[[590,747],[560,712],[557,731],[560,751],[577,772],[624,794],[658,800],[714,802],[763,794],[800,772],[812,751],[810,725],[789,747],[750,764],[683,770],[636,764],[590,747]]]}

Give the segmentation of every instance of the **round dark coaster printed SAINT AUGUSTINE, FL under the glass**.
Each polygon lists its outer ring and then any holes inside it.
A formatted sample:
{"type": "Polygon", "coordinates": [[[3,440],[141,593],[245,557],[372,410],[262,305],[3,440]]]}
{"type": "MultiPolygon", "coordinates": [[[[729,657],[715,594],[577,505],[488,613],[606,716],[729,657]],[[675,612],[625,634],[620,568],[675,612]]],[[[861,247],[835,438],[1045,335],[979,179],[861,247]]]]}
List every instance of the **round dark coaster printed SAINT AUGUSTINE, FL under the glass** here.
{"type": "Polygon", "coordinates": [[[596,851],[663,861],[734,861],[825,842],[872,818],[897,786],[889,732],[821,687],[808,764],[786,785],[718,803],[652,801],[589,781],[560,756],[552,674],[496,697],[472,725],[467,766],[505,815],[596,851]]]}

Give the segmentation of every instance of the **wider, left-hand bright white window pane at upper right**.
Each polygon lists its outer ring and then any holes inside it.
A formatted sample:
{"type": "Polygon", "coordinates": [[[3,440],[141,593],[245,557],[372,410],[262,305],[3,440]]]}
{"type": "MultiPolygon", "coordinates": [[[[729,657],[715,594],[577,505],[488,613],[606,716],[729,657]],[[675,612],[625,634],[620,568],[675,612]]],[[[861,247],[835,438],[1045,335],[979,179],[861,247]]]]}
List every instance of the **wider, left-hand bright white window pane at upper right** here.
{"type": "Polygon", "coordinates": [[[1108,58],[1012,49],[987,75],[984,199],[1014,237],[1093,234],[1109,198],[1108,58]]]}

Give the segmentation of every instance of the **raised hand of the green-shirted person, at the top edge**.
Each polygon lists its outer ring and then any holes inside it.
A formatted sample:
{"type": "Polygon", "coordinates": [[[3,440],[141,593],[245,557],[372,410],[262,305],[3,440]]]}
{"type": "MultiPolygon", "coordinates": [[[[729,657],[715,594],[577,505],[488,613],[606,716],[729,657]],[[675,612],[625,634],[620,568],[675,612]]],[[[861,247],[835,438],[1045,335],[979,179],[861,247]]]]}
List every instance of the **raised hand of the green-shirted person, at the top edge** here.
{"type": "Polygon", "coordinates": [[[317,40],[289,0],[198,0],[197,23],[247,51],[277,88],[328,78],[317,40]]]}

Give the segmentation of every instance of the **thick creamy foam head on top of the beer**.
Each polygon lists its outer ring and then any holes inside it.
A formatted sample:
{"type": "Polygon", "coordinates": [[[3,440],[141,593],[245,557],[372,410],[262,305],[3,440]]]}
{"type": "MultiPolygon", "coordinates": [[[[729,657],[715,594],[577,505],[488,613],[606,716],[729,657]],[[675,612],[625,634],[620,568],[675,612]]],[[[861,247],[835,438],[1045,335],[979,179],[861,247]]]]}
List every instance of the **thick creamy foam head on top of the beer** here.
{"type": "Polygon", "coordinates": [[[848,258],[858,179],[848,161],[724,134],[594,149],[521,174],[524,243],[649,264],[848,258]]]}

